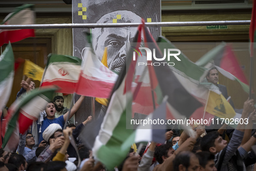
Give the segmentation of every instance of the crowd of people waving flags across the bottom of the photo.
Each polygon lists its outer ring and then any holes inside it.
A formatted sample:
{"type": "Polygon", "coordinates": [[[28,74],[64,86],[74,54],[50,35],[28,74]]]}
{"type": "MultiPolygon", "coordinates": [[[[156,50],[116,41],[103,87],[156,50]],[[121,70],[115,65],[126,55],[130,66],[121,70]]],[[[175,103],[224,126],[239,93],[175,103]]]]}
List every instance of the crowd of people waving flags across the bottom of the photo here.
{"type": "MultiPolygon", "coordinates": [[[[218,71],[212,68],[207,81],[220,87],[227,96],[227,88],[218,84],[218,71]]],[[[21,82],[23,93],[35,89],[31,79],[21,82]]],[[[91,149],[79,138],[86,125],[92,121],[89,116],[80,125],[71,119],[81,106],[81,96],[69,111],[63,106],[64,98],[55,96],[40,113],[36,126],[20,134],[16,152],[0,149],[0,171],[104,171],[104,165],[94,160],[91,149]],[[68,117],[68,113],[69,117],[68,117]],[[65,128],[65,121],[69,120],[65,128]],[[65,129],[64,129],[65,128],[65,129]],[[75,140],[78,154],[71,141],[75,140]],[[82,162],[79,167],[78,155],[82,162]]],[[[233,103],[231,102],[233,106],[233,103]]],[[[244,102],[241,118],[249,122],[239,123],[236,129],[206,129],[203,125],[191,131],[166,130],[165,143],[149,142],[140,151],[130,152],[115,171],[256,171],[256,110],[253,99],[244,102]],[[228,136],[227,136],[228,133],[228,136]]],[[[109,156],[111,158],[111,156],[109,156]]]]}

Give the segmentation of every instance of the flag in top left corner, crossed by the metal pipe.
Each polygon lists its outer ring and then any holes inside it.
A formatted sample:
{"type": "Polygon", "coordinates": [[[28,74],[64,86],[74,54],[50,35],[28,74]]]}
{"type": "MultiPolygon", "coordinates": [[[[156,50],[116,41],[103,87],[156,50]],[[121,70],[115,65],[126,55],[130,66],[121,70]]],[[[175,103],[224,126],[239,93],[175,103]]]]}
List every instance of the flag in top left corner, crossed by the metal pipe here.
{"type": "MultiPolygon", "coordinates": [[[[10,13],[3,19],[1,25],[29,25],[35,24],[36,14],[33,11],[32,4],[19,6],[13,13],[10,13]]],[[[18,42],[27,37],[35,37],[34,29],[0,29],[0,46],[4,43],[18,42]]]]}

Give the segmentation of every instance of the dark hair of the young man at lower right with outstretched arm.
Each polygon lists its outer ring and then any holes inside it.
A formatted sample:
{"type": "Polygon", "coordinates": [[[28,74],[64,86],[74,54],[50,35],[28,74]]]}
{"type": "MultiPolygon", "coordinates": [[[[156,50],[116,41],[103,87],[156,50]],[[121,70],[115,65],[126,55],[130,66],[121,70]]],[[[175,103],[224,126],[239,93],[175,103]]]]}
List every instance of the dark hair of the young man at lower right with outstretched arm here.
{"type": "Polygon", "coordinates": [[[201,139],[201,148],[202,151],[210,152],[210,147],[215,147],[214,142],[215,139],[217,139],[220,136],[219,132],[217,131],[211,131],[208,132],[203,138],[201,139]]]}

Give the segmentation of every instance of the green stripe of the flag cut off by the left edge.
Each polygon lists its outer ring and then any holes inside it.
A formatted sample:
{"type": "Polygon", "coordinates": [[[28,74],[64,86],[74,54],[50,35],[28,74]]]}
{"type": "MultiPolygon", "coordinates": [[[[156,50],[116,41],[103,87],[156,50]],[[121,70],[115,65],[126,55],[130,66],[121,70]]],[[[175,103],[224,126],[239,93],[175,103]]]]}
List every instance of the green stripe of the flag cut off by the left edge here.
{"type": "Polygon", "coordinates": [[[14,55],[11,44],[9,43],[0,56],[0,82],[14,70],[14,55]]]}

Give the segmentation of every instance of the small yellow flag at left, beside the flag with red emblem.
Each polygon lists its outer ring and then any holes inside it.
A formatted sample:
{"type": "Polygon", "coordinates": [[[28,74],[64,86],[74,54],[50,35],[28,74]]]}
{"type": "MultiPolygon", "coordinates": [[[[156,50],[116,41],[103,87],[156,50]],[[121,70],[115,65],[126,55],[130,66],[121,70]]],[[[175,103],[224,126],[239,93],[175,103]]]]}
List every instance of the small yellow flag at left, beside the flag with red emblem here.
{"type": "Polygon", "coordinates": [[[38,65],[34,64],[29,60],[25,61],[23,75],[26,75],[27,77],[32,78],[33,80],[41,81],[43,72],[43,68],[39,67],[38,65]]]}

